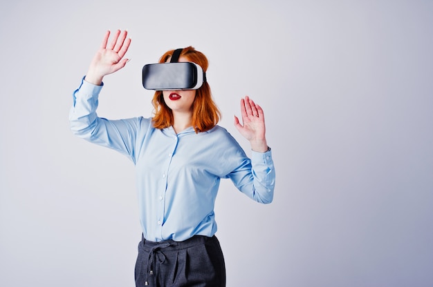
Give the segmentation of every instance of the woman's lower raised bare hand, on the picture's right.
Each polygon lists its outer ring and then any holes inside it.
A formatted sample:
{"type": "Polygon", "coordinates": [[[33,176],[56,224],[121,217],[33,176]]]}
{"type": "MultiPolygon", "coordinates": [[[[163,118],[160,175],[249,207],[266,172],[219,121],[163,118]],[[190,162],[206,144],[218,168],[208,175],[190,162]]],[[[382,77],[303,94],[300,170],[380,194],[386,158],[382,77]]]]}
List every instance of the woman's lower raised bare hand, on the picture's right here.
{"type": "Polygon", "coordinates": [[[252,150],[266,152],[268,145],[265,137],[265,117],[261,107],[246,96],[241,99],[241,115],[242,124],[238,117],[234,116],[234,126],[250,141],[252,150]]]}

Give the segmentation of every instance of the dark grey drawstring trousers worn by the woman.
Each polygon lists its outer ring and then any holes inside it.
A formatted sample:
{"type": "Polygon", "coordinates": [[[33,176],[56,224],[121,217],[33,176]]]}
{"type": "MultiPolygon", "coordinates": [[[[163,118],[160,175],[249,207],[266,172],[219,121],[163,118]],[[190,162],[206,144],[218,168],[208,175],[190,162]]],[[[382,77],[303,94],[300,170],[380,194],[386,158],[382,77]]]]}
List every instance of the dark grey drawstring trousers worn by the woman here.
{"type": "Polygon", "coordinates": [[[216,237],[138,244],[136,287],[225,286],[224,257],[216,237]]]}

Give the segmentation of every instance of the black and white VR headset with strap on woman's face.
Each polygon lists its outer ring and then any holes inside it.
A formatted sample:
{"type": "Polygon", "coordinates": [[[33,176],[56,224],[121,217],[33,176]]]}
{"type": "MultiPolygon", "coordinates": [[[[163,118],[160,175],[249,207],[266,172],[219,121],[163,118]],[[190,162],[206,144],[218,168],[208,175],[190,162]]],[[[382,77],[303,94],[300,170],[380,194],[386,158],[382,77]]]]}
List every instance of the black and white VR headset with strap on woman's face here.
{"type": "Polygon", "coordinates": [[[150,63],[142,68],[142,86],[146,90],[196,90],[206,81],[201,66],[178,63],[183,49],[173,52],[169,63],[150,63]]]}

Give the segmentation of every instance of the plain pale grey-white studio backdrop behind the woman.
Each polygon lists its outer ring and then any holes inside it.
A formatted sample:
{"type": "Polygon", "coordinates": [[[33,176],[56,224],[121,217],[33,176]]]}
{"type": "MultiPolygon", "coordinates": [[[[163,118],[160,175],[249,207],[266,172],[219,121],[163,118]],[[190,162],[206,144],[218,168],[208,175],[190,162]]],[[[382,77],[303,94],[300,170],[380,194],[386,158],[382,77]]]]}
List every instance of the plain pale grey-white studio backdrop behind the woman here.
{"type": "Polygon", "coordinates": [[[133,164],[69,131],[106,30],[127,67],[98,114],[151,116],[141,68],[208,56],[227,128],[265,111],[277,168],[260,205],[223,181],[228,286],[432,286],[432,1],[1,1],[0,286],[133,286],[133,164]]]}

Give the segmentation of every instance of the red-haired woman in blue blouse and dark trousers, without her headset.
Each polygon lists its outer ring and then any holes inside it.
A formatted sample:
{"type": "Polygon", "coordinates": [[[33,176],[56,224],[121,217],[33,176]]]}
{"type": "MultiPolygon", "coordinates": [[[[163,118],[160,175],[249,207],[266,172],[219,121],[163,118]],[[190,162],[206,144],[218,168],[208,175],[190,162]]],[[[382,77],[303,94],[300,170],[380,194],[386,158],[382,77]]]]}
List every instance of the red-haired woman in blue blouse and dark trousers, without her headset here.
{"type": "MultiPolygon", "coordinates": [[[[273,200],[275,170],[265,137],[264,113],[241,99],[242,123],[234,126],[251,143],[251,159],[216,123],[220,113],[205,81],[198,90],[156,91],[151,119],[107,120],[98,117],[102,79],[125,67],[131,39],[105,34],[70,112],[75,135],[113,148],[136,165],[142,241],[138,246],[136,286],[225,286],[225,265],[214,236],[214,201],[221,178],[263,204],[273,200]]],[[[173,50],[160,63],[169,61],[173,50]]],[[[178,61],[208,60],[188,47],[178,61]]]]}

